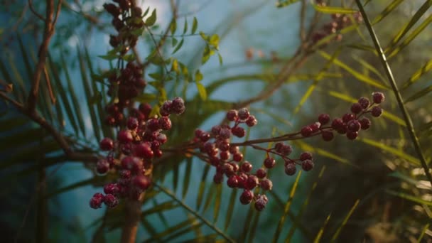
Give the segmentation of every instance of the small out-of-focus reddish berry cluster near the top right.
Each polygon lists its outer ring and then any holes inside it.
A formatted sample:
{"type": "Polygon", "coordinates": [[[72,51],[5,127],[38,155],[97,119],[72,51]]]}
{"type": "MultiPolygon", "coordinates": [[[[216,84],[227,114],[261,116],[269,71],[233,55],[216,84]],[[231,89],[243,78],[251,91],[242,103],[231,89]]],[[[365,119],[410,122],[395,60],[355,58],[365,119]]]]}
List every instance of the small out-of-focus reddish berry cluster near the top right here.
{"type": "MultiPolygon", "coordinates": [[[[325,4],[325,3],[321,3],[325,4]]],[[[316,31],[312,35],[312,43],[315,44],[321,39],[325,38],[326,36],[329,36],[333,33],[338,33],[342,28],[345,28],[347,26],[352,25],[352,19],[350,16],[347,16],[346,14],[340,14],[340,13],[333,13],[331,15],[332,21],[329,23],[325,23],[320,30],[316,31]]],[[[352,18],[355,22],[360,23],[363,21],[362,15],[360,13],[354,13],[352,15],[352,18]]],[[[335,41],[341,41],[342,40],[342,34],[338,34],[335,37],[335,41]]]]}

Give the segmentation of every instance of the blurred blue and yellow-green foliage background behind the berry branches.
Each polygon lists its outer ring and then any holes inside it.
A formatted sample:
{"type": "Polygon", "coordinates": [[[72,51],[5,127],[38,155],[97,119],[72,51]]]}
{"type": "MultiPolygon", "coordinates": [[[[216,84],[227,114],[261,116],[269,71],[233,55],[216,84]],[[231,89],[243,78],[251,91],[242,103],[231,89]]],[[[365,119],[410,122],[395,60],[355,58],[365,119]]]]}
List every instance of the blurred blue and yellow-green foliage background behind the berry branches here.
{"type": "MultiPolygon", "coordinates": [[[[185,133],[195,129],[190,124],[208,130],[220,123],[226,108],[215,107],[217,102],[235,104],[271,85],[302,45],[301,24],[306,26],[306,34],[311,29],[309,36],[313,36],[332,22],[330,14],[316,14],[316,6],[309,1],[304,6],[302,1],[292,1],[283,7],[277,6],[289,1],[138,1],[144,10],[156,9],[156,26],[151,28],[156,40],[171,23],[173,2],[179,16],[178,31],[168,36],[163,53],[168,58],[175,46],[171,45],[173,38],[184,38],[183,46],[172,56],[193,72],[200,68],[208,95],[202,101],[193,82],[166,83],[168,98],[183,95],[190,104],[186,114],[173,119],[174,129],[168,136],[175,137],[173,141],[191,139],[193,134],[185,133]],[[214,55],[200,67],[205,42],[199,34],[181,33],[185,21],[191,28],[194,17],[198,31],[220,37],[222,63],[214,55]],[[196,121],[190,123],[190,116],[196,121]]],[[[366,2],[365,9],[387,51],[396,82],[404,87],[401,94],[430,163],[431,1],[366,2]],[[408,23],[411,25],[405,28],[408,23]],[[398,38],[400,41],[394,43],[398,38]]],[[[110,50],[109,34],[114,33],[111,19],[103,11],[104,3],[63,1],[48,61],[51,82],[55,83],[55,104],[47,91],[48,82],[41,82],[43,98],[38,110],[82,151],[97,152],[102,136],[97,134],[103,126],[97,104],[104,101],[104,87],[92,80],[90,66],[91,72],[109,69],[109,62],[98,57],[110,50]]],[[[355,1],[331,1],[327,5],[357,9],[355,1]]],[[[45,12],[43,1],[34,1],[33,7],[45,12]]],[[[14,97],[22,100],[28,94],[43,21],[31,13],[28,1],[0,1],[0,23],[0,79],[13,83],[14,97]]],[[[139,242],[181,242],[215,233],[183,205],[239,242],[266,242],[273,236],[287,202],[292,205],[280,240],[310,242],[322,231],[320,239],[325,242],[335,234],[339,242],[432,242],[431,184],[421,170],[367,28],[360,22],[358,28],[336,35],[341,39],[331,38],[325,46],[316,48],[279,90],[250,105],[259,124],[251,129],[249,138],[298,131],[321,113],[340,117],[349,112],[352,102],[370,97],[374,91],[386,95],[384,117],[373,119],[371,129],[362,131],[356,141],[336,136],[331,143],[318,137],[290,142],[295,155],[314,153],[315,168],[303,172],[290,198],[296,176],[286,175],[283,161],[278,161],[270,175],[274,189],[267,194],[270,202],[263,212],[240,205],[240,192],[234,194],[227,186],[214,185],[214,168],[206,173],[205,164],[198,158],[166,161],[156,170],[154,180],[179,200],[155,190],[143,205],[146,213],[137,236],[139,242]],[[322,76],[318,78],[318,74],[322,76]],[[204,193],[201,188],[205,188],[204,193]],[[181,227],[173,227],[182,222],[181,227]],[[172,230],[166,232],[168,229],[172,230]]],[[[151,36],[144,33],[137,47],[145,58],[154,48],[151,36]]],[[[151,71],[160,70],[150,67],[151,71]]],[[[105,221],[105,209],[92,210],[88,204],[109,179],[97,176],[90,163],[68,161],[49,134],[3,100],[0,115],[0,231],[4,242],[92,242],[99,241],[97,234],[102,234],[106,242],[118,242],[121,208],[110,212],[112,220],[105,221]]],[[[265,158],[264,153],[252,148],[245,154],[256,166],[265,158]]]]}

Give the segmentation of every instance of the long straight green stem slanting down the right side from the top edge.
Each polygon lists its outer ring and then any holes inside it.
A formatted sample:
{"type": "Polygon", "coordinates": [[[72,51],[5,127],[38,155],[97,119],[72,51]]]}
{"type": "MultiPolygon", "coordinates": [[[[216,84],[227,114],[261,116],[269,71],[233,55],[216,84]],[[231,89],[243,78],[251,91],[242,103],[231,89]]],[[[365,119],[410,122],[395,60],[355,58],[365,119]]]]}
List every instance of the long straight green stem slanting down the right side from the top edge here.
{"type": "Polygon", "coordinates": [[[384,71],[386,72],[387,78],[389,79],[390,85],[392,85],[392,90],[394,92],[394,95],[396,96],[397,103],[399,105],[399,109],[401,109],[402,115],[404,116],[404,120],[406,123],[406,129],[408,129],[409,136],[411,137],[411,140],[414,144],[414,149],[416,150],[417,156],[420,158],[421,166],[423,167],[424,173],[426,174],[426,177],[428,178],[429,182],[432,185],[432,175],[429,172],[428,163],[426,162],[426,158],[423,155],[423,152],[421,151],[421,146],[419,139],[416,136],[416,131],[414,130],[414,125],[411,120],[411,117],[409,115],[408,110],[406,109],[404,105],[404,99],[401,96],[401,93],[399,92],[399,89],[396,85],[396,81],[394,80],[392,69],[390,68],[389,63],[387,63],[386,55],[384,54],[381,45],[379,44],[377,35],[375,34],[374,29],[372,28],[372,25],[369,21],[369,18],[367,17],[367,14],[365,12],[365,9],[362,6],[362,3],[360,0],[355,0],[357,3],[357,6],[360,9],[360,12],[362,13],[363,19],[365,20],[365,24],[367,27],[367,30],[369,31],[369,35],[372,38],[372,41],[374,42],[375,49],[377,50],[379,60],[381,60],[382,67],[384,68],[384,71]]]}

